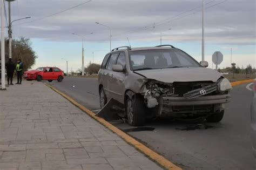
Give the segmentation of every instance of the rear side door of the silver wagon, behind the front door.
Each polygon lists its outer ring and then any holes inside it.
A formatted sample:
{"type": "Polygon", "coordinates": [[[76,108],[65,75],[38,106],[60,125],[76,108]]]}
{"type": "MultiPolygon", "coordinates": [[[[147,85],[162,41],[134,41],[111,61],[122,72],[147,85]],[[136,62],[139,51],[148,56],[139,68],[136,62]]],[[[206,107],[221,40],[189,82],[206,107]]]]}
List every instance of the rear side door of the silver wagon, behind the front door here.
{"type": "MultiPolygon", "coordinates": [[[[111,81],[112,81],[112,78],[113,78],[113,74],[114,74],[114,71],[112,71],[112,66],[114,64],[116,64],[117,62],[117,57],[119,55],[119,52],[116,52],[116,53],[112,53],[108,62],[107,62],[107,66],[106,66],[106,70],[105,70],[105,80],[106,80],[106,87],[105,87],[105,92],[106,92],[106,95],[107,95],[107,99],[111,99],[111,98],[114,98],[115,96],[113,95],[113,91],[111,91],[111,81]]],[[[114,98],[116,99],[116,98],[114,98]]]]}

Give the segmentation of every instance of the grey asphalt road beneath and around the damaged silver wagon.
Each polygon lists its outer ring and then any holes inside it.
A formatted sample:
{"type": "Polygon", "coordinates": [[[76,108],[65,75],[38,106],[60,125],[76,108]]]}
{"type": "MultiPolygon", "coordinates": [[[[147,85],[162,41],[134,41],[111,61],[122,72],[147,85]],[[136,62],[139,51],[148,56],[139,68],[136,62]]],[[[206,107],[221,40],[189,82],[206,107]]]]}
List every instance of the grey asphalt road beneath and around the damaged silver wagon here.
{"type": "MultiPolygon", "coordinates": [[[[66,77],[62,83],[51,84],[85,107],[99,108],[97,79],[66,77]]],[[[154,120],[143,128],[121,121],[112,124],[184,169],[256,169],[250,143],[252,91],[245,84],[234,87],[231,95],[224,118],[217,124],[167,120],[154,120]]]]}

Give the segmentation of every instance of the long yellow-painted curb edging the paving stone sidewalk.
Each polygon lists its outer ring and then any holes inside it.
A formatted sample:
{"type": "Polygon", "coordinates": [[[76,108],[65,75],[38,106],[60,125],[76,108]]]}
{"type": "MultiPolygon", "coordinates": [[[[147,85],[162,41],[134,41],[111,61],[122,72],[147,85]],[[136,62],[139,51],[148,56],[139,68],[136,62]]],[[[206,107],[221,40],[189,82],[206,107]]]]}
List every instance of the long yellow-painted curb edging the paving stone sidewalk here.
{"type": "Polygon", "coordinates": [[[114,133],[119,135],[119,137],[123,138],[128,144],[130,144],[130,145],[134,146],[135,148],[137,148],[140,152],[144,153],[147,157],[149,157],[153,161],[157,162],[159,165],[163,166],[166,169],[170,169],[170,170],[181,170],[180,167],[174,165],[169,160],[165,159],[164,157],[162,157],[158,153],[152,151],[150,148],[146,147],[145,145],[143,145],[142,143],[140,143],[136,139],[132,138],[130,135],[124,133],[121,130],[119,130],[116,126],[113,126],[112,124],[110,124],[109,122],[104,120],[103,118],[97,117],[95,115],[95,113],[91,112],[90,110],[88,110],[83,105],[77,103],[76,100],[74,100],[71,97],[69,97],[68,95],[60,92],[59,90],[55,89],[55,87],[52,87],[49,84],[45,84],[45,85],[50,87],[53,91],[59,93],[64,98],[68,99],[73,105],[77,106],[78,108],[80,108],[80,110],[82,110],[82,111],[86,112],[87,114],[89,114],[90,117],[92,117],[93,119],[97,120],[99,123],[101,123],[104,126],[106,126],[107,128],[109,128],[111,131],[113,131],[114,133]]]}

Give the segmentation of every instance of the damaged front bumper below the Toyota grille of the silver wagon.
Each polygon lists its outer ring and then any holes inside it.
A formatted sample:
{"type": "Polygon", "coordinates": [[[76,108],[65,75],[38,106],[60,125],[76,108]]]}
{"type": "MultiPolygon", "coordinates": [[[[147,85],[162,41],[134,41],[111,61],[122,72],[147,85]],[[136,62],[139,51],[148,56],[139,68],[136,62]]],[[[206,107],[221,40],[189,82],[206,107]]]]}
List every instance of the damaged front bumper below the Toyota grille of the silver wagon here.
{"type": "Polygon", "coordinates": [[[160,97],[157,116],[218,112],[224,110],[224,104],[230,102],[230,100],[230,94],[201,96],[193,99],[185,97],[160,97]]]}

